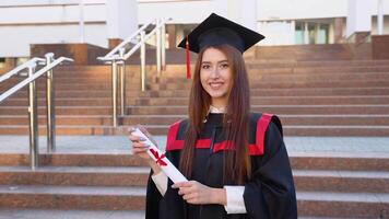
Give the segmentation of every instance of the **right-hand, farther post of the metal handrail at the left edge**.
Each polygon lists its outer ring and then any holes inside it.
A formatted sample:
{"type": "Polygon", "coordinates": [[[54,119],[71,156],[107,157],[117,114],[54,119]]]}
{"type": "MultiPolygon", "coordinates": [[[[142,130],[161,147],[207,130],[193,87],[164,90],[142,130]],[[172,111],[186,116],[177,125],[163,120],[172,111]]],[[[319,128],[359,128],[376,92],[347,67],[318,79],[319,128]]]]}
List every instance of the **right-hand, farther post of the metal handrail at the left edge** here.
{"type": "MultiPolygon", "coordinates": [[[[45,55],[46,66],[54,60],[54,54],[45,55]]],[[[47,71],[46,79],[46,117],[47,117],[47,152],[56,151],[56,106],[55,106],[55,84],[52,69],[47,71]]]]}

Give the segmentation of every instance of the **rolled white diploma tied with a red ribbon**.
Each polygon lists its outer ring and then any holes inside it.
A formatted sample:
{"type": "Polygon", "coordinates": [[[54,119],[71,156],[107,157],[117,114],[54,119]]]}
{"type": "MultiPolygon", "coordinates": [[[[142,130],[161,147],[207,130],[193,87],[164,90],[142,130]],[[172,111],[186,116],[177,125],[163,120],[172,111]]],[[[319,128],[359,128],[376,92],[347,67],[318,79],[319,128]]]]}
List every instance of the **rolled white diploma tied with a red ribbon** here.
{"type": "Polygon", "coordinates": [[[174,183],[187,182],[188,180],[181,172],[165,157],[165,154],[151,141],[146,135],[144,135],[139,128],[134,128],[132,135],[144,138],[143,142],[149,145],[149,155],[160,165],[161,170],[169,177],[174,183]]]}

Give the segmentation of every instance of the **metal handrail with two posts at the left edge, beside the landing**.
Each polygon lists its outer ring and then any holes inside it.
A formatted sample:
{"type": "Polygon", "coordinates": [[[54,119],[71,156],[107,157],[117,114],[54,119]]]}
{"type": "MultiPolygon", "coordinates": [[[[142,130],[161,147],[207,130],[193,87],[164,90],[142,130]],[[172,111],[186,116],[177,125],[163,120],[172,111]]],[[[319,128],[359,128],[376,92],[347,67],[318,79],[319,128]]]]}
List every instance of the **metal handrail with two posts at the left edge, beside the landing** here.
{"type": "MultiPolygon", "coordinates": [[[[25,68],[28,69],[28,78],[19,82],[8,91],[0,95],[0,103],[5,99],[10,97],[19,90],[25,85],[30,85],[28,89],[28,122],[30,122],[30,161],[31,168],[34,171],[39,163],[39,152],[38,152],[38,107],[37,107],[37,91],[36,91],[36,80],[43,74],[47,73],[47,96],[46,96],[46,110],[47,110],[47,151],[52,152],[55,150],[55,95],[54,95],[54,77],[52,69],[61,64],[62,61],[73,61],[71,58],[60,57],[54,60],[54,54],[49,53],[45,55],[46,59],[35,59],[39,61],[45,61],[46,66],[35,72],[37,66],[36,61],[27,61],[22,67],[16,67],[13,71],[19,72],[25,68]]],[[[8,74],[11,77],[11,73],[8,74]]]]}

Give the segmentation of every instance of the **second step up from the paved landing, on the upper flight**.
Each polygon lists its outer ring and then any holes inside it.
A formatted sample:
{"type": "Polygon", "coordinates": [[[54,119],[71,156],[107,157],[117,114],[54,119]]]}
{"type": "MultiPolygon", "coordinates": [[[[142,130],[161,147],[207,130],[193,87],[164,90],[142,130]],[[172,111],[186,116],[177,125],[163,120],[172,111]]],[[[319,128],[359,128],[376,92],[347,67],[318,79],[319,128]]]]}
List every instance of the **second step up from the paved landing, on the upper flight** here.
{"type": "MultiPolygon", "coordinates": [[[[130,115],[122,117],[125,126],[138,124],[170,125],[177,120],[186,118],[186,115],[130,115]]],[[[389,125],[389,115],[279,115],[284,126],[290,125],[389,125]]],[[[46,115],[39,116],[38,124],[46,125],[46,115]]],[[[110,115],[72,116],[58,115],[56,117],[58,126],[67,125],[89,125],[89,126],[110,126],[113,118],[110,115]]],[[[0,125],[28,125],[27,115],[0,115],[0,125]]]]}

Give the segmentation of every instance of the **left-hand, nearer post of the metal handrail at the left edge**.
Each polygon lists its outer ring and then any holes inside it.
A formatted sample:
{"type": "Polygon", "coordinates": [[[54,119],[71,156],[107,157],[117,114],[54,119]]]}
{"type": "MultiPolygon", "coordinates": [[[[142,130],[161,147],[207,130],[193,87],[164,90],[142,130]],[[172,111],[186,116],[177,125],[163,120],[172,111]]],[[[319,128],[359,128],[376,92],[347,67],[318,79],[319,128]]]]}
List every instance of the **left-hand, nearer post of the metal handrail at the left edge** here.
{"type": "MultiPolygon", "coordinates": [[[[28,77],[33,77],[36,64],[28,67],[28,77]]],[[[30,164],[35,169],[39,164],[39,141],[38,141],[38,107],[35,81],[30,82],[28,88],[28,125],[30,125],[30,164]]]]}

